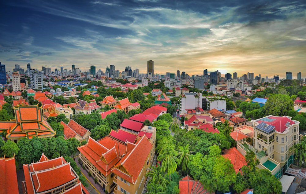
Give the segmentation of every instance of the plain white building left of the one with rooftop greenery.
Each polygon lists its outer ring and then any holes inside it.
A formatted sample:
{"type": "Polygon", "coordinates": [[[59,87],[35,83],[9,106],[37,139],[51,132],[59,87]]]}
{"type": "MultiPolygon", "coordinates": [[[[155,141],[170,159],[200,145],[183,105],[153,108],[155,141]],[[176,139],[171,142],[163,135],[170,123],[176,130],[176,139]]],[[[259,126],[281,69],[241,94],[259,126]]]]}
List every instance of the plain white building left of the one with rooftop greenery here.
{"type": "Polygon", "coordinates": [[[202,108],[202,93],[184,93],[185,97],[180,99],[180,112],[187,113],[185,109],[195,109],[197,107],[202,108]]]}

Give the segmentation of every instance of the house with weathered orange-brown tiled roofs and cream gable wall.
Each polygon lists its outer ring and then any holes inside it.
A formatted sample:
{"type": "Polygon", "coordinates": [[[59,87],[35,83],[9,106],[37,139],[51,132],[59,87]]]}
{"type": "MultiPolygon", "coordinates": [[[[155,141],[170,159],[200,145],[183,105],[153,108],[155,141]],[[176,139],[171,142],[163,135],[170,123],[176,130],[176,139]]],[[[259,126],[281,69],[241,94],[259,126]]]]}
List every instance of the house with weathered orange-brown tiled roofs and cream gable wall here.
{"type": "Polygon", "coordinates": [[[68,124],[61,121],[61,124],[64,126],[64,137],[66,139],[76,138],[78,141],[88,141],[91,132],[85,129],[80,124],[76,123],[73,119],[70,119],[68,124]]]}

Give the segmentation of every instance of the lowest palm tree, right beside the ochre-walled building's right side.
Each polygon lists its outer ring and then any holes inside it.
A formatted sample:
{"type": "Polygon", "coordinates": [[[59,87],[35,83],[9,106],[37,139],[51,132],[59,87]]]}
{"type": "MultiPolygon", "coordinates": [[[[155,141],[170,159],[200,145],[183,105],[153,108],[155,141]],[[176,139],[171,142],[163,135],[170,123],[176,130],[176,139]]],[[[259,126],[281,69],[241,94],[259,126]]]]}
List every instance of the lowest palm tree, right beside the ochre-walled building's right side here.
{"type": "Polygon", "coordinates": [[[160,185],[162,187],[162,191],[166,191],[169,181],[166,180],[163,175],[164,172],[162,172],[159,164],[157,167],[151,167],[151,170],[146,174],[147,177],[151,177],[148,183],[152,183],[153,185],[160,185]]]}

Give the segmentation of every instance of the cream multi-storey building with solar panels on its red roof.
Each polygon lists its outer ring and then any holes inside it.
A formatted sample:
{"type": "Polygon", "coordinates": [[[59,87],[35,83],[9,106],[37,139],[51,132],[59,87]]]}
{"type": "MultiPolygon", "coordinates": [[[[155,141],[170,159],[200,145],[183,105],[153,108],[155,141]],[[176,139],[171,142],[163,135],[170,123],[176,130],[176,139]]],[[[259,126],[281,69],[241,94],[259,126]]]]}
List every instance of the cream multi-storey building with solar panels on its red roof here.
{"type": "Polygon", "coordinates": [[[289,116],[266,116],[253,120],[254,147],[263,150],[266,156],[280,163],[282,167],[289,156],[289,148],[299,141],[299,121],[289,116]]]}

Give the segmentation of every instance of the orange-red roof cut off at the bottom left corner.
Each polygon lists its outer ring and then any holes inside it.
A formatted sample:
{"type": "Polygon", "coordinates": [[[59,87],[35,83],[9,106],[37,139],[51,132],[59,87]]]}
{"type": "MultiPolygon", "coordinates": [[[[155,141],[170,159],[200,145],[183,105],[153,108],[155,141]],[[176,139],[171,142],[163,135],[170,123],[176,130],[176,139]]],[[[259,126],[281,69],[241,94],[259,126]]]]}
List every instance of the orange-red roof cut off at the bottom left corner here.
{"type": "Polygon", "coordinates": [[[0,158],[0,193],[19,193],[15,156],[0,158]]]}

